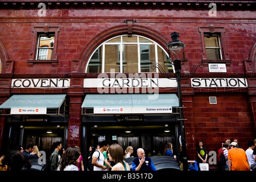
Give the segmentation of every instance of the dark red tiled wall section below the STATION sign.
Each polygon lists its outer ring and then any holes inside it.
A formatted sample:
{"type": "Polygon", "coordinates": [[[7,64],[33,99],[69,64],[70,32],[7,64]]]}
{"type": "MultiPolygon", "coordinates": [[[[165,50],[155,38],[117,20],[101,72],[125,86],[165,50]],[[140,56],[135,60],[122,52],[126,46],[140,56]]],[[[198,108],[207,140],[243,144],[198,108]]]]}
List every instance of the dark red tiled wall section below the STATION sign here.
{"type": "Polygon", "coordinates": [[[188,109],[192,109],[193,117],[188,115],[188,121],[185,122],[186,137],[191,149],[188,154],[191,156],[195,155],[191,152],[195,152],[199,140],[203,140],[208,151],[217,151],[223,140],[233,141],[234,138],[246,150],[247,142],[254,140],[253,114],[250,112],[246,94],[196,93],[192,96],[192,101],[192,108],[188,109]],[[209,104],[209,97],[217,97],[217,104],[209,104]]]}

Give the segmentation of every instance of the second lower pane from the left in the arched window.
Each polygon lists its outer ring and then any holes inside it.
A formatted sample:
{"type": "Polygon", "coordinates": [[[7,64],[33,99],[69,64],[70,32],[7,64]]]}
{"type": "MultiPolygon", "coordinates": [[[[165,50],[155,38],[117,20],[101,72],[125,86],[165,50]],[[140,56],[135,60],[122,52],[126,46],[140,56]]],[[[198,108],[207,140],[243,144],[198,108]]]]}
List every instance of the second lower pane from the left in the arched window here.
{"type": "Polygon", "coordinates": [[[112,72],[111,69],[115,69],[115,72],[120,72],[120,56],[119,45],[105,45],[104,72],[112,72]]]}

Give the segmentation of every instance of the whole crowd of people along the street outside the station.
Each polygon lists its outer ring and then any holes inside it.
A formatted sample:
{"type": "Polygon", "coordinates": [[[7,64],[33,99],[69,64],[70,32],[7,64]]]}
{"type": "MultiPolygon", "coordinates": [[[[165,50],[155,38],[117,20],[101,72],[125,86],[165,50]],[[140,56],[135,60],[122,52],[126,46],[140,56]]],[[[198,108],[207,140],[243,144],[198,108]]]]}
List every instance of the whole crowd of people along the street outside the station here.
{"type": "MultiPolygon", "coordinates": [[[[243,150],[239,145],[238,140],[226,140],[222,142],[222,147],[218,150],[217,164],[221,171],[249,171],[255,170],[256,166],[256,139],[254,142],[248,143],[247,150],[243,150]]],[[[98,146],[93,151],[93,147],[89,148],[89,156],[86,159],[87,164],[91,164],[92,168],[86,168],[83,163],[81,150],[78,146],[63,148],[61,142],[55,142],[52,145],[54,151],[52,152],[50,161],[51,171],[130,171],[130,166],[125,159],[133,158],[133,147],[128,146],[125,150],[119,144],[111,144],[109,146],[106,141],[98,143],[98,146]]],[[[209,164],[208,151],[203,147],[203,142],[199,141],[199,147],[196,148],[197,163],[187,158],[189,170],[208,171],[209,164]],[[193,166],[193,163],[195,167],[193,166]]],[[[167,142],[164,148],[164,155],[170,155],[176,159],[174,151],[172,150],[172,143],[167,142]]],[[[183,170],[183,152],[179,154],[179,164],[181,171],[183,170]]],[[[27,144],[26,148],[18,146],[16,150],[5,152],[0,158],[0,171],[22,171],[31,168],[31,159],[40,158],[38,147],[31,143],[27,144]]],[[[143,148],[138,148],[137,156],[133,159],[132,171],[156,171],[154,163],[151,158],[145,155],[143,148]]]]}

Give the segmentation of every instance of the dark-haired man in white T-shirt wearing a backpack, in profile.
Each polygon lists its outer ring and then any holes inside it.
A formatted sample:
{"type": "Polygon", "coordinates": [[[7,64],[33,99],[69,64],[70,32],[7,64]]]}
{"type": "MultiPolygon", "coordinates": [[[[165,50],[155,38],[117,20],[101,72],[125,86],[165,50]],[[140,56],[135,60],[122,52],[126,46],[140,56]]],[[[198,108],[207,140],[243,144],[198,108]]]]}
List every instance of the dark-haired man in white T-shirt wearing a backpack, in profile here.
{"type": "Polygon", "coordinates": [[[104,155],[102,154],[103,151],[107,150],[107,143],[105,141],[99,142],[98,145],[100,146],[99,150],[96,150],[92,156],[92,164],[93,164],[93,171],[104,171],[106,166],[104,165],[104,155]]]}

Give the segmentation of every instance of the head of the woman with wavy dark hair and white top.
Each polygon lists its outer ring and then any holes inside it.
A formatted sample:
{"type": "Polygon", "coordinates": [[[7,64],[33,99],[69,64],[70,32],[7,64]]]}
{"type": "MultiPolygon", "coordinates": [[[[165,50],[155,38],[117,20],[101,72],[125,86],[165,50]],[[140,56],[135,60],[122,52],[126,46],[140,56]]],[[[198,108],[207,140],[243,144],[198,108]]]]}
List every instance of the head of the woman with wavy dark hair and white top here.
{"type": "Polygon", "coordinates": [[[79,149],[75,147],[68,147],[67,150],[65,150],[63,159],[61,160],[60,171],[63,171],[68,165],[75,165],[76,163],[79,163],[79,158],[79,149]]]}

